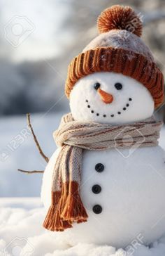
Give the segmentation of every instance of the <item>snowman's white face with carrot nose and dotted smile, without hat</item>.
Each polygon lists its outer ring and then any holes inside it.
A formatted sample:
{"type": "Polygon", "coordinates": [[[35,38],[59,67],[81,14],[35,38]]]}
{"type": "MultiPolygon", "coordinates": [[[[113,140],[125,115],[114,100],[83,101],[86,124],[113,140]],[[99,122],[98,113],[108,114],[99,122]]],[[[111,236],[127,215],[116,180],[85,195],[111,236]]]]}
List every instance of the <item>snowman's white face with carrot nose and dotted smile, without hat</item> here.
{"type": "Polygon", "coordinates": [[[76,82],[70,108],[78,121],[128,123],[144,120],[154,111],[154,100],[143,84],[115,72],[96,72],[76,82]]]}

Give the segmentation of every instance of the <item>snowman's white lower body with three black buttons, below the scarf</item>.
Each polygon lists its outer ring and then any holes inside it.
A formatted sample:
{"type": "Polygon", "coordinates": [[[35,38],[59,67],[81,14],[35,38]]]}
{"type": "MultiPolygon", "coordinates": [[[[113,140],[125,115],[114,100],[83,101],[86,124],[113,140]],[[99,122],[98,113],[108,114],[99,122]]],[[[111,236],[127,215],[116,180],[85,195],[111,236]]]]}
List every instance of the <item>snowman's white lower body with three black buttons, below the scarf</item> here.
{"type": "MultiPolygon", "coordinates": [[[[41,198],[51,204],[51,177],[59,153],[45,169],[41,198]]],[[[165,154],[157,147],[84,151],[80,195],[89,218],[62,232],[70,245],[126,247],[138,236],[149,244],[165,232],[165,154]]],[[[56,234],[58,236],[58,233],[56,234]]]]}

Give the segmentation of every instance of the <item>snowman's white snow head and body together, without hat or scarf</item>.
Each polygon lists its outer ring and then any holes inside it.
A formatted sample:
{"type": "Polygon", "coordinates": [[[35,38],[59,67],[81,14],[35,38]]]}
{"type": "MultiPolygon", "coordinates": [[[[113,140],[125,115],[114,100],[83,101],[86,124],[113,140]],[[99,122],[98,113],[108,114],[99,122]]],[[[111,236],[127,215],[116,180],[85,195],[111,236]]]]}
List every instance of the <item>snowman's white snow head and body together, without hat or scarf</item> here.
{"type": "MultiPolygon", "coordinates": [[[[136,79],[96,72],[76,82],[70,108],[79,122],[122,125],[151,117],[154,101],[136,79]]],[[[52,155],[43,175],[41,198],[46,210],[51,205],[52,174],[59,151],[52,155]]],[[[155,241],[165,233],[164,162],[164,150],[159,146],[84,150],[80,196],[89,217],[55,235],[70,245],[95,243],[117,248],[139,236],[146,245],[155,241]]]]}

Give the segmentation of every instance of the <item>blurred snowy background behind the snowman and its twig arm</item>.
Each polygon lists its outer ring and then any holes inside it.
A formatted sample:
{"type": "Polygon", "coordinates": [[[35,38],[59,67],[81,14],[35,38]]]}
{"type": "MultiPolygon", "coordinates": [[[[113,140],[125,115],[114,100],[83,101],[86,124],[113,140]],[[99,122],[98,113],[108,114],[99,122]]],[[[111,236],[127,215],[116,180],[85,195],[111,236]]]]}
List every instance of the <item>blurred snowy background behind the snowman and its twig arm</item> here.
{"type": "MultiPolygon", "coordinates": [[[[50,157],[52,132],[69,111],[64,95],[67,66],[97,35],[96,19],[113,4],[129,5],[143,17],[143,40],[165,74],[164,0],[0,0],[0,196],[39,196],[43,170],[27,127],[26,113],[50,157]]],[[[157,110],[165,120],[165,106],[157,110]]]]}

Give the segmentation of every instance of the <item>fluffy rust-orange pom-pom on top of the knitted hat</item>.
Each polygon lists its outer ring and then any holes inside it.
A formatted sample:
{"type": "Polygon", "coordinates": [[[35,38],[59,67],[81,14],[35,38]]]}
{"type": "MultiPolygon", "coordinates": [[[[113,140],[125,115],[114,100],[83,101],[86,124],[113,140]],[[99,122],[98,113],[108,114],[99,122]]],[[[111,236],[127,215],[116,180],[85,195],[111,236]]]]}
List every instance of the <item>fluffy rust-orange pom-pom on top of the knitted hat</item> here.
{"type": "Polygon", "coordinates": [[[97,20],[99,33],[110,30],[127,30],[141,37],[142,22],[129,6],[115,5],[104,10],[97,20]]]}

